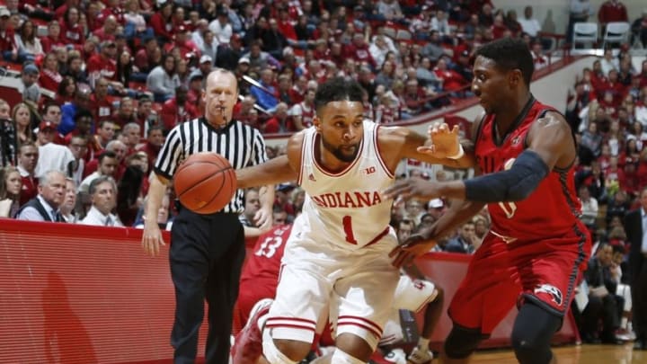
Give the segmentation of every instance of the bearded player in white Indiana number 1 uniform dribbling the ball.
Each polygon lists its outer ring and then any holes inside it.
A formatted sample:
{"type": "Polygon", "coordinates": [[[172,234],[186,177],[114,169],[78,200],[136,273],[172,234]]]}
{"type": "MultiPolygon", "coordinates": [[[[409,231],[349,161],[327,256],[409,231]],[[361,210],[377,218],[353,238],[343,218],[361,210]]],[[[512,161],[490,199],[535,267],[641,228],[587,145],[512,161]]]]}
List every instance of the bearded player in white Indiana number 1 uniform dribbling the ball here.
{"type": "MultiPolygon", "coordinates": [[[[457,142],[457,130],[434,139],[434,153],[422,155],[418,148],[425,148],[427,138],[364,120],[362,89],[355,81],[321,84],[315,111],[314,126],[289,138],[287,155],[236,171],[238,188],[297,180],[306,191],[264,324],[260,363],[305,358],[331,306],[337,313],[332,363],[366,363],[392,312],[399,279],[388,257],[397,244],[389,227],[393,200],[384,199],[382,191],[394,183],[403,158],[455,168],[473,164],[457,142]]],[[[257,357],[249,353],[239,363],[257,357]]]]}

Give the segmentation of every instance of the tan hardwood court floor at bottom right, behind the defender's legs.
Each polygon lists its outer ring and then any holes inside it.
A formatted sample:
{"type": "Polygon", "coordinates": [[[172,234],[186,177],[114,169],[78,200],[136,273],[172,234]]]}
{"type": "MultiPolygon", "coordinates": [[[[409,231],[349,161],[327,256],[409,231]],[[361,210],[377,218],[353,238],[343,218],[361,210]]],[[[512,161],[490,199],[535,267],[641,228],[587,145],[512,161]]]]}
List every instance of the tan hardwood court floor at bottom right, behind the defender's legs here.
{"type": "MultiPolygon", "coordinates": [[[[647,364],[647,351],[634,351],[633,343],[625,345],[569,345],[553,348],[558,364],[647,364]]],[[[512,351],[479,351],[474,363],[514,364],[512,351]]]]}

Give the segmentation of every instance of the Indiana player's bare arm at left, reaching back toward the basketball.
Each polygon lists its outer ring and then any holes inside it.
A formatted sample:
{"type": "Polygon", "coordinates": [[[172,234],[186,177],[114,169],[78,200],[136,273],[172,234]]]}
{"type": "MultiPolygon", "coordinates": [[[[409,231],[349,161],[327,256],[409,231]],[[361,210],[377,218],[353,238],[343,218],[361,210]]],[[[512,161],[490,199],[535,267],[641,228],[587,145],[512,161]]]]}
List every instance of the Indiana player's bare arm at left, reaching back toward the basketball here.
{"type": "Polygon", "coordinates": [[[288,140],[288,152],[263,164],[253,165],[235,171],[239,189],[260,187],[269,184],[297,181],[301,163],[303,134],[297,133],[288,140]]]}

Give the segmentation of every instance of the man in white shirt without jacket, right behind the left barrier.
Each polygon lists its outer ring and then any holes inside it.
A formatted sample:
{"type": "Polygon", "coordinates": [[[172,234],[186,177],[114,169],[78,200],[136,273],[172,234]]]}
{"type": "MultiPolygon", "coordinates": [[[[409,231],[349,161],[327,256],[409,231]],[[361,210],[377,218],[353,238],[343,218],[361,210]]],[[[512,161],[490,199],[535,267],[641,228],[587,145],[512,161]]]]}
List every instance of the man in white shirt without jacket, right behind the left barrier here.
{"type": "Polygon", "coordinates": [[[85,218],[83,225],[93,226],[120,226],[123,227],[117,216],[111,213],[117,206],[117,186],[112,177],[102,175],[90,183],[90,196],[92,208],[85,218]]]}

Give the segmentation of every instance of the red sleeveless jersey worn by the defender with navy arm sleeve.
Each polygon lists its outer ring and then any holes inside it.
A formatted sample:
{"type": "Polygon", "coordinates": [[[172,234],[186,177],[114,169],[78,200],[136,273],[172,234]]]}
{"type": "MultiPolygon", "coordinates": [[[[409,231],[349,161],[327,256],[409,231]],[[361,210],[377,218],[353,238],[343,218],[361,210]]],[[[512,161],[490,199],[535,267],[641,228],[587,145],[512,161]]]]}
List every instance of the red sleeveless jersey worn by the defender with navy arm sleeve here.
{"type": "MultiPolygon", "coordinates": [[[[501,142],[494,141],[495,115],[485,116],[476,138],[476,160],[483,173],[495,173],[510,166],[527,145],[527,132],[545,111],[554,108],[532,99],[518,117],[517,126],[501,142]]],[[[574,167],[554,168],[526,200],[488,204],[492,234],[504,240],[534,242],[573,234],[580,223],[581,203],[575,193],[574,167]]],[[[584,228],[581,231],[586,231],[584,228]]]]}

